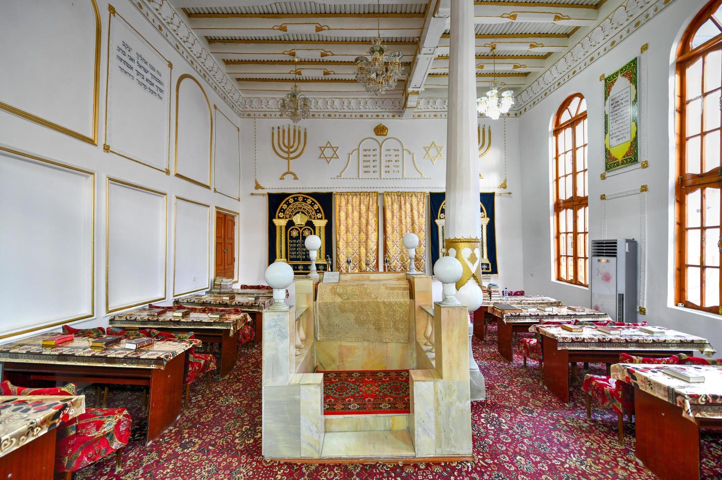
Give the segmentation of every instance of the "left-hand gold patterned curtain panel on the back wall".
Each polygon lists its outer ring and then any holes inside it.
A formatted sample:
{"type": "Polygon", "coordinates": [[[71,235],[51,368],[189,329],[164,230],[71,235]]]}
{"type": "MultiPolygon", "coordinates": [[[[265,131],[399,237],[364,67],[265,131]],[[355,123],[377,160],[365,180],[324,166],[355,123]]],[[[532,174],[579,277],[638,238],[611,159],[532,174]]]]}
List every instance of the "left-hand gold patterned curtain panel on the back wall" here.
{"type": "Polygon", "coordinates": [[[334,200],[339,271],[378,271],[378,193],[334,193],[334,200]]]}

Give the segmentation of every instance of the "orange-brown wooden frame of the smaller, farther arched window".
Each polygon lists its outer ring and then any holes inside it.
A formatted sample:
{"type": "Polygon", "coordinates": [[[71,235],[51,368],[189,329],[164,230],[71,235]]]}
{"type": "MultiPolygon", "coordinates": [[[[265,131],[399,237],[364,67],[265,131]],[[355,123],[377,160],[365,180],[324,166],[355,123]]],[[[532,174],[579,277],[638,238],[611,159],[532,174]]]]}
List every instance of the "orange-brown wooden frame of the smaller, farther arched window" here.
{"type": "MultiPolygon", "coordinates": [[[[580,123],[583,123],[587,120],[587,111],[586,109],[583,112],[579,112],[579,108],[582,105],[582,102],[585,102],[585,98],[580,93],[575,93],[573,95],[570,95],[567,97],[564,102],[562,102],[562,105],[560,106],[559,110],[557,110],[557,115],[554,116],[554,130],[552,137],[554,139],[554,156],[552,158],[552,172],[554,177],[554,263],[555,263],[555,269],[556,269],[556,279],[558,282],[563,282],[565,284],[572,284],[572,285],[578,285],[580,287],[588,287],[589,286],[589,278],[588,278],[588,272],[589,272],[589,252],[588,252],[588,218],[589,218],[589,196],[588,196],[588,184],[585,186],[584,190],[586,191],[586,196],[578,196],[577,195],[577,177],[578,173],[582,173],[585,170],[578,171],[577,170],[577,143],[576,143],[576,128],[580,123]],[[569,107],[570,103],[573,102],[575,99],[579,99],[579,105],[577,108],[577,111],[572,115],[572,118],[564,121],[562,123],[561,118],[564,114],[565,110],[569,107]],[[562,131],[565,131],[566,128],[571,128],[572,131],[572,195],[569,198],[565,198],[564,200],[560,200],[559,196],[559,186],[560,186],[560,175],[558,171],[558,162],[559,162],[559,154],[558,152],[558,145],[559,145],[559,136],[562,131]],[[586,208],[586,229],[585,230],[579,230],[578,229],[578,210],[586,208]],[[562,256],[560,255],[560,239],[561,239],[561,232],[560,232],[560,221],[559,217],[560,214],[563,211],[566,211],[567,209],[572,210],[572,229],[571,233],[573,236],[572,240],[572,254],[569,255],[568,251],[565,257],[571,257],[573,261],[573,278],[572,279],[563,279],[562,278],[562,256]],[[586,239],[586,245],[584,245],[584,255],[580,255],[580,249],[578,248],[578,242],[577,238],[579,235],[585,235],[586,239]],[[586,272],[584,276],[585,282],[580,282],[579,280],[579,260],[584,259],[586,262],[586,272]]],[[[588,139],[587,143],[583,144],[583,147],[587,148],[587,155],[588,155],[588,139]]],[[[586,165],[586,172],[587,172],[587,178],[588,178],[588,165],[586,165]]],[[[588,180],[587,180],[588,181],[588,180]]],[[[569,226],[567,225],[567,232],[570,232],[569,226]]],[[[568,272],[568,267],[567,267],[568,272]]]]}

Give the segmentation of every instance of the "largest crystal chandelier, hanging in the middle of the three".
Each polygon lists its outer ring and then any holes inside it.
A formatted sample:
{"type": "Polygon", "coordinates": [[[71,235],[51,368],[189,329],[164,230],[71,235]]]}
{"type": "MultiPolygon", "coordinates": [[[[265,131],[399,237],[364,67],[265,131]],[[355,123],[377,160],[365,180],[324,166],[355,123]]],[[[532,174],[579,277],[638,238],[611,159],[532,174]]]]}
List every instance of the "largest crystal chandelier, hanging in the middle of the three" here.
{"type": "MultiPolygon", "coordinates": [[[[379,4],[377,0],[377,5],[379,4]]],[[[380,11],[380,8],[379,8],[380,11]]],[[[401,52],[386,53],[381,44],[380,20],[376,17],[376,38],[366,56],[356,57],[356,81],[363,84],[367,92],[373,95],[383,95],[386,90],[396,87],[399,75],[404,73],[401,66],[401,52]]]]}

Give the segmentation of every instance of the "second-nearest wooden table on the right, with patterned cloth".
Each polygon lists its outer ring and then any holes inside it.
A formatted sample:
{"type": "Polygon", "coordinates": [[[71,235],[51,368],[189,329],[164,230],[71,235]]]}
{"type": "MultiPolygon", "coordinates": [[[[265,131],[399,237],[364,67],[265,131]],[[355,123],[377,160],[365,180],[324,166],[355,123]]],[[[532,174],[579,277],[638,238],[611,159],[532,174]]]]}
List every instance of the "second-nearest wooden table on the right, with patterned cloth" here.
{"type": "Polygon", "coordinates": [[[693,350],[711,356],[715,349],[707,339],[666,329],[664,335],[644,333],[636,327],[617,327],[622,333],[613,335],[596,327],[583,327],[582,332],[570,332],[559,326],[536,325],[529,328],[541,339],[544,358],[544,385],[564,403],[569,402],[569,364],[592,362],[616,364],[619,354],[645,357],[668,357],[677,353],[692,354],[693,350]]]}

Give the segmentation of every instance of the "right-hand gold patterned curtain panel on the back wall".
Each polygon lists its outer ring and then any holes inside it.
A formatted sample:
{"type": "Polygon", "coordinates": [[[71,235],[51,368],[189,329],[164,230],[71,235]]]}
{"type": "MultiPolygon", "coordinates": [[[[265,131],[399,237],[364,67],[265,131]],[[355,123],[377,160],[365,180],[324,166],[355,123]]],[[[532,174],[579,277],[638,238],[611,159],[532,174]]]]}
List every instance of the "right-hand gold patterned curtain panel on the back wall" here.
{"type": "Polygon", "coordinates": [[[426,192],[383,193],[383,249],[389,271],[409,269],[409,253],[401,239],[409,232],[419,236],[414,265],[426,271],[426,192]]]}

